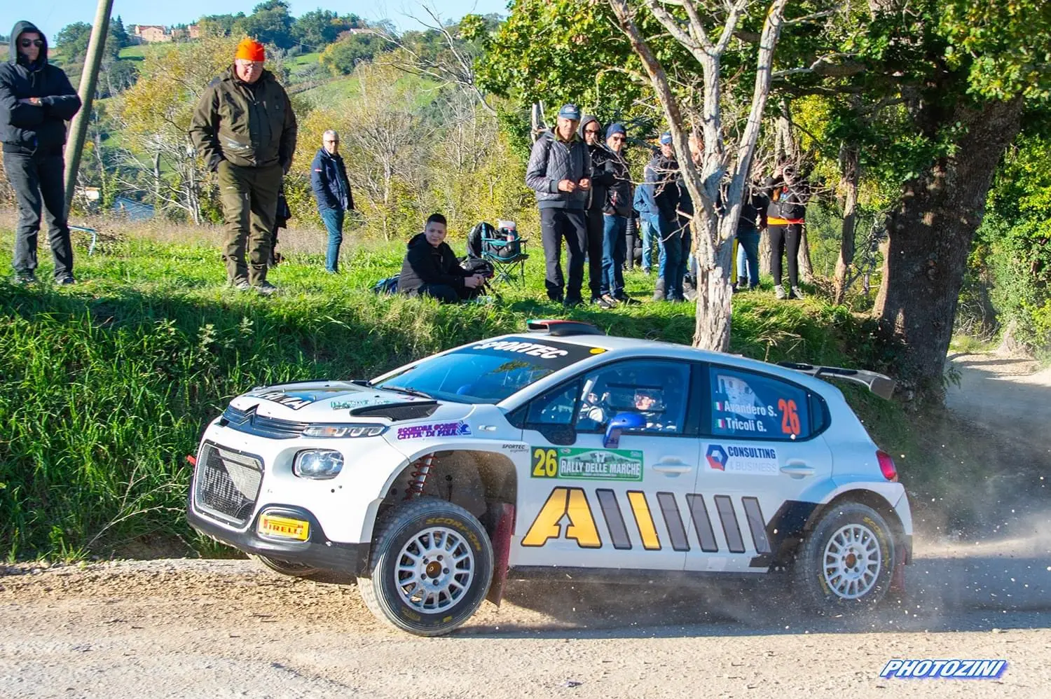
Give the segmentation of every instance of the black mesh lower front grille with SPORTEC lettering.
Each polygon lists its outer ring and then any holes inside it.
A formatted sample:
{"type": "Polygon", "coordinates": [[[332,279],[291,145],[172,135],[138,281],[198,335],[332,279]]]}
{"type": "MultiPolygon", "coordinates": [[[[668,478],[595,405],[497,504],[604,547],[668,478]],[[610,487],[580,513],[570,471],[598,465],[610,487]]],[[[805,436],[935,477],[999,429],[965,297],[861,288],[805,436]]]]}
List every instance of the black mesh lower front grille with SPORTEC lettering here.
{"type": "Polygon", "coordinates": [[[263,484],[263,461],[218,445],[205,444],[198,459],[193,502],[198,510],[245,525],[263,484]]]}

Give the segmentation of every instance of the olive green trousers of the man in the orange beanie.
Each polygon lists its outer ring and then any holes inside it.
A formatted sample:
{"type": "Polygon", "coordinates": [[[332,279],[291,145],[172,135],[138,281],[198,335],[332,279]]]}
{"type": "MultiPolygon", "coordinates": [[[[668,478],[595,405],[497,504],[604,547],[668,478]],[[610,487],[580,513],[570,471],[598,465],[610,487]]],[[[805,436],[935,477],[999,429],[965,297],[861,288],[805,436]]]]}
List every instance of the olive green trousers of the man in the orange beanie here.
{"type": "Polygon", "coordinates": [[[227,280],[261,284],[266,281],[277,192],[285,173],[281,165],[239,167],[225,160],[220,161],[218,173],[226,222],[223,262],[227,280]]]}

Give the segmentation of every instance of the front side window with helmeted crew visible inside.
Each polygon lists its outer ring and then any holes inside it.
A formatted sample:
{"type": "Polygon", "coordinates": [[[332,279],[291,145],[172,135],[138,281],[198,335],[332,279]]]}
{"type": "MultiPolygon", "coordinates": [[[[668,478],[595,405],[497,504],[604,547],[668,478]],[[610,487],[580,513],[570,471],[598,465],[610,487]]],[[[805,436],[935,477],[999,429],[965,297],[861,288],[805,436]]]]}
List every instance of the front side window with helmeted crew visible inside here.
{"type": "Polygon", "coordinates": [[[577,411],[578,432],[601,432],[618,413],[638,413],[633,432],[682,434],[689,366],[676,362],[618,362],[586,376],[577,411]]]}

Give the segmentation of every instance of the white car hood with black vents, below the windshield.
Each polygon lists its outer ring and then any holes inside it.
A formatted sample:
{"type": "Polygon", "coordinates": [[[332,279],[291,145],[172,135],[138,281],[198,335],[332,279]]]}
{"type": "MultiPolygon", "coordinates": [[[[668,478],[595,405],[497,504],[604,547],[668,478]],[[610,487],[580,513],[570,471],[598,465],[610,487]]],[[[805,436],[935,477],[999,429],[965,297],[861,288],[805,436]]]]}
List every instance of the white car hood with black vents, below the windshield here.
{"type": "Polygon", "coordinates": [[[347,423],[386,418],[397,422],[431,415],[456,418],[472,406],[441,403],[352,382],[305,382],[255,388],[230,402],[239,410],[298,423],[347,423]],[[385,409],[388,408],[389,409],[385,409]]]}

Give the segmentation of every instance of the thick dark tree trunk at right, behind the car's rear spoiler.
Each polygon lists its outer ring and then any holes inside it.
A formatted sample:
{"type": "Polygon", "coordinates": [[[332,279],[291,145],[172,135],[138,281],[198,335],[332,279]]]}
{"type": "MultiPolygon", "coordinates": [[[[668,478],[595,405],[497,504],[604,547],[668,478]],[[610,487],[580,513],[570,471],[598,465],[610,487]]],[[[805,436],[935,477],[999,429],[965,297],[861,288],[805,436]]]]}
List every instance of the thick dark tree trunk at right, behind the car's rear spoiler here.
{"type": "MultiPolygon", "coordinates": [[[[924,107],[934,109],[936,107],[924,107]]],[[[873,312],[901,344],[899,371],[921,395],[942,399],[942,374],[956,301],[986,194],[1004,150],[1021,126],[1022,99],[921,114],[928,128],[960,123],[952,157],[907,182],[890,221],[883,284],[873,312]]]]}

